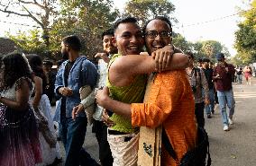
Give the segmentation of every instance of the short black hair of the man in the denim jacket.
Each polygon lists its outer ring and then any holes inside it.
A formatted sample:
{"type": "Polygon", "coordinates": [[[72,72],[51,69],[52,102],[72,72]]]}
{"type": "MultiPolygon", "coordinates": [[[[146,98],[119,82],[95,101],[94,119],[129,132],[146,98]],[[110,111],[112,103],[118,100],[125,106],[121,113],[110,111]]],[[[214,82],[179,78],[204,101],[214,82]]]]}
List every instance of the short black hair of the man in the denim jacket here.
{"type": "Polygon", "coordinates": [[[62,42],[64,44],[67,44],[70,48],[72,48],[76,51],[80,51],[82,48],[81,41],[78,38],[78,36],[76,36],[76,35],[67,36],[64,39],[62,39],[62,42]]]}

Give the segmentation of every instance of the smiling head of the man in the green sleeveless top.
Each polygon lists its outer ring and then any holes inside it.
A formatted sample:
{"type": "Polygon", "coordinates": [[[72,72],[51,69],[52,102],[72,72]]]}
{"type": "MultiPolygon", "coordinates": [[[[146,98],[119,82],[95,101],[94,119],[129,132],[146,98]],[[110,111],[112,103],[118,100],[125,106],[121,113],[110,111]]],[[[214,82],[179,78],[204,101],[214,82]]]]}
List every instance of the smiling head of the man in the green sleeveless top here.
{"type": "Polygon", "coordinates": [[[141,28],[133,22],[120,23],[114,31],[114,45],[122,56],[139,55],[144,46],[141,28]]]}

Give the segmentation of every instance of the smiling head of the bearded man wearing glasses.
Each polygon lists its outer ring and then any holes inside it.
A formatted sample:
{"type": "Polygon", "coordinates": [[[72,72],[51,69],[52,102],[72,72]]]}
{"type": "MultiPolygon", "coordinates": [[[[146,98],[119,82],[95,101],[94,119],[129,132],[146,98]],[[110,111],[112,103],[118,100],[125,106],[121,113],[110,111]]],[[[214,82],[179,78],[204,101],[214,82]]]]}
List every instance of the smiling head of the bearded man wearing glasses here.
{"type": "Polygon", "coordinates": [[[167,22],[152,20],[148,23],[145,31],[145,44],[149,54],[170,43],[171,28],[167,22]]]}

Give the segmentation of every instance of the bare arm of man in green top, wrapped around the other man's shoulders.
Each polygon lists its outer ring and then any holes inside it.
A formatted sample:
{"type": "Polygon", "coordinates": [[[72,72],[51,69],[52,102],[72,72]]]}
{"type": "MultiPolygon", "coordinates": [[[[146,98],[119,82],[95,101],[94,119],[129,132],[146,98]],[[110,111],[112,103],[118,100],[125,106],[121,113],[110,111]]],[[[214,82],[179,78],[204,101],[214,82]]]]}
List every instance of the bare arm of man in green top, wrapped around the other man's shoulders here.
{"type": "MultiPolygon", "coordinates": [[[[188,57],[182,53],[176,53],[171,63],[165,70],[185,69],[188,57]]],[[[138,74],[150,74],[157,72],[155,60],[145,55],[128,55],[117,57],[109,68],[109,80],[115,86],[125,86],[131,83],[138,74]]]]}

